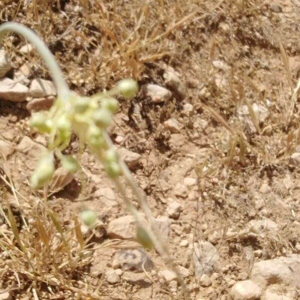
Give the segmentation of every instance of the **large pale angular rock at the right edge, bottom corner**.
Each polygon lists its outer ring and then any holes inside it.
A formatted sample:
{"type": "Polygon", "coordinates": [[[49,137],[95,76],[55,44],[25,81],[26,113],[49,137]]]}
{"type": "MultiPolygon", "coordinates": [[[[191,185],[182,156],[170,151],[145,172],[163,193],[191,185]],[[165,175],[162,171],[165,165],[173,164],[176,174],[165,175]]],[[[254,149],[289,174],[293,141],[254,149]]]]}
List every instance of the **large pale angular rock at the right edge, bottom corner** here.
{"type": "Polygon", "coordinates": [[[300,286],[300,255],[290,254],[255,262],[250,277],[262,287],[281,282],[300,286]]]}

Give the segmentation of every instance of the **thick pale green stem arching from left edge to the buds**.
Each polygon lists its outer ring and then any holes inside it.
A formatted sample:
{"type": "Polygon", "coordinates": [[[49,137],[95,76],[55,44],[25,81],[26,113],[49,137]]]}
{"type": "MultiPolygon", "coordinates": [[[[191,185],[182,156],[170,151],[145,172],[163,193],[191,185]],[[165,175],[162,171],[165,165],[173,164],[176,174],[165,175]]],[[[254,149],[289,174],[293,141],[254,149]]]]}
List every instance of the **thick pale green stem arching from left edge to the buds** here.
{"type": "Polygon", "coordinates": [[[52,80],[57,88],[59,98],[66,102],[70,92],[69,88],[55,57],[44,42],[31,29],[15,22],[6,22],[0,25],[0,41],[4,37],[5,33],[9,31],[13,31],[24,36],[35,47],[36,51],[40,54],[49,69],[52,80]]]}

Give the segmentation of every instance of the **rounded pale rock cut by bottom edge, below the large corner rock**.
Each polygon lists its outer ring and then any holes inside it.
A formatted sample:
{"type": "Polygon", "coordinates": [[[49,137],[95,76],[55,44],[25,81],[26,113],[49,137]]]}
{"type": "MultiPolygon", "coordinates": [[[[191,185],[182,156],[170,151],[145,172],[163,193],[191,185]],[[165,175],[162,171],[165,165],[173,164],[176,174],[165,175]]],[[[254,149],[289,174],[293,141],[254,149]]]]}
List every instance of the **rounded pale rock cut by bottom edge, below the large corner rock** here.
{"type": "Polygon", "coordinates": [[[251,280],[236,282],[230,291],[233,300],[255,300],[261,296],[261,288],[251,280]]]}

